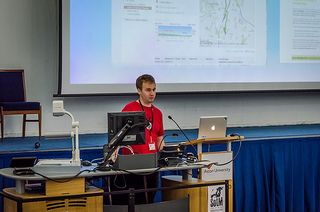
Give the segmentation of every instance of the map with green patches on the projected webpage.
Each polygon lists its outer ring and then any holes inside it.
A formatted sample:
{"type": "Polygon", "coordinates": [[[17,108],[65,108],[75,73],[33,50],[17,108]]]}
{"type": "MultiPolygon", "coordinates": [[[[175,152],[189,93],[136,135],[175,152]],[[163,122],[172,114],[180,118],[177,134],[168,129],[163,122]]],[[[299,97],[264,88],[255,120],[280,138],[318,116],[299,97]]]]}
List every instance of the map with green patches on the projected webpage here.
{"type": "Polygon", "coordinates": [[[254,20],[254,0],[201,0],[200,46],[254,48],[254,20]]]}

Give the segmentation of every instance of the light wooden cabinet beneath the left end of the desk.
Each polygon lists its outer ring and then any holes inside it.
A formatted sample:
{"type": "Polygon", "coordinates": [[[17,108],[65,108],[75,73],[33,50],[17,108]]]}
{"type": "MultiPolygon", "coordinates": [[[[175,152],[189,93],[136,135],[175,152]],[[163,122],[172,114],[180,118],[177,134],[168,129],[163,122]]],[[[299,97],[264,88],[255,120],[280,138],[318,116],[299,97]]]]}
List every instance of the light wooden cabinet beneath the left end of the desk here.
{"type": "MultiPolygon", "coordinates": [[[[16,188],[5,188],[3,193],[15,198],[23,200],[32,200],[37,198],[44,198],[35,202],[22,203],[23,212],[35,211],[51,211],[51,212],[90,212],[90,211],[103,211],[103,197],[75,197],[64,198],[66,195],[81,195],[81,194],[94,194],[103,193],[102,189],[95,187],[85,188],[85,178],[76,178],[67,183],[57,183],[53,181],[45,182],[44,190],[25,191],[24,193],[17,192],[16,188]],[[46,197],[59,197],[57,200],[45,200],[46,197]]],[[[20,209],[21,210],[21,209],[20,209]]],[[[18,211],[18,203],[9,198],[4,198],[4,211],[16,212],[18,211]]]]}

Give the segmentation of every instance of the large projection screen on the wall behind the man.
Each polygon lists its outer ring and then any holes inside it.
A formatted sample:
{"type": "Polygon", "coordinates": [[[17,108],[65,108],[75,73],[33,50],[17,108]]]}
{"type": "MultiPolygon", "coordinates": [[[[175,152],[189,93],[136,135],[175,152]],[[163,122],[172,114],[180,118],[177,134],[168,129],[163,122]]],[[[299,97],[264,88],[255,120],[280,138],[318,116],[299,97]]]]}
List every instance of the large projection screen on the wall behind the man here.
{"type": "Polygon", "coordinates": [[[320,89],[320,1],[61,0],[57,96],[320,89]]]}

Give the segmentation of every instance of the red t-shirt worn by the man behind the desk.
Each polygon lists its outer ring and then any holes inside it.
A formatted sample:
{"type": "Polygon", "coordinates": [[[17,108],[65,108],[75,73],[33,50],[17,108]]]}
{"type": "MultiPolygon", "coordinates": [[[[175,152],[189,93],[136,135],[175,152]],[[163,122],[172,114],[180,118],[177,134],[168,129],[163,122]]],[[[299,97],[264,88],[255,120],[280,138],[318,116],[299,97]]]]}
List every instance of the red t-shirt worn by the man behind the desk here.
{"type": "MultiPolygon", "coordinates": [[[[146,132],[145,132],[146,143],[143,145],[131,145],[131,147],[133,151],[139,152],[140,154],[155,153],[157,152],[158,145],[159,145],[157,144],[157,137],[164,135],[163,116],[161,111],[155,106],[152,106],[152,107],[143,106],[143,110],[146,114],[146,119],[152,122],[152,129],[151,129],[152,141],[150,139],[150,131],[146,129],[146,132]],[[152,113],[153,113],[153,120],[152,120],[152,113]],[[155,150],[149,150],[150,143],[155,144],[155,150]]],[[[129,112],[129,111],[142,111],[140,103],[138,103],[137,101],[131,102],[127,104],[122,110],[122,112],[129,112]]],[[[126,148],[123,148],[123,154],[131,154],[131,152],[126,148]]]]}

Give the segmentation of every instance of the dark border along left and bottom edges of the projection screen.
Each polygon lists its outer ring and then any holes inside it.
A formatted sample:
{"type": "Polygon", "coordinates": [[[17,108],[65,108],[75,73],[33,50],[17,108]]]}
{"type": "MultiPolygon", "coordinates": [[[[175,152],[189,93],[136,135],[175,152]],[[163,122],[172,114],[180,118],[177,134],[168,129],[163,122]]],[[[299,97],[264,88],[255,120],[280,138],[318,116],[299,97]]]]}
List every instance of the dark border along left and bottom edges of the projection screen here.
{"type": "MultiPolygon", "coordinates": [[[[92,93],[63,93],[63,83],[62,83],[62,60],[63,60],[63,42],[62,42],[62,0],[58,1],[58,88],[57,93],[53,94],[53,97],[87,97],[87,96],[131,96],[136,95],[136,90],[125,93],[109,93],[109,92],[92,92],[92,93]]],[[[272,17],[267,17],[267,21],[272,17]]],[[[269,42],[268,42],[269,43],[269,42]]],[[[268,44],[269,45],[269,44],[268,44]]],[[[207,86],[210,87],[210,90],[203,91],[193,88],[192,90],[179,89],[177,87],[174,91],[161,92],[161,87],[167,86],[165,83],[158,84],[157,94],[160,95],[185,95],[185,94],[227,94],[227,93],[278,93],[278,92],[319,92],[320,91],[320,82],[258,82],[258,83],[209,83],[207,86]],[[160,88],[160,89],[159,89],[160,88]]],[[[193,85],[197,86],[197,84],[193,85]]],[[[134,86],[132,86],[134,87],[134,86]]]]}

